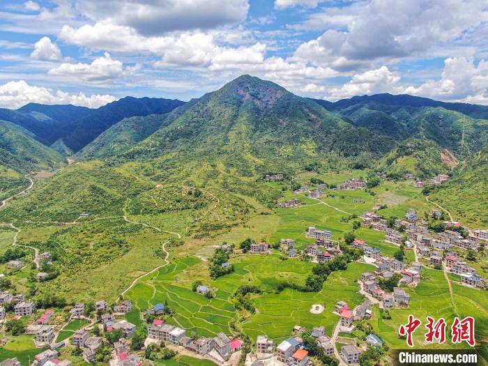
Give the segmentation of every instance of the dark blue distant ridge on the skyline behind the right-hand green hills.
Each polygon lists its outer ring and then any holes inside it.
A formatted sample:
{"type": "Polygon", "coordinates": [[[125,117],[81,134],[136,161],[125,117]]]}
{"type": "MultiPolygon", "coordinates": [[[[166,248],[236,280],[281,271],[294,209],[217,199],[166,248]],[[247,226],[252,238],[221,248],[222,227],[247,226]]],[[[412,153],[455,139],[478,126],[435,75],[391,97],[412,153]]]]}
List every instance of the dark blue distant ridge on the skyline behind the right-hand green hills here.
{"type": "Polygon", "coordinates": [[[340,111],[347,107],[351,107],[351,105],[376,102],[390,107],[443,107],[444,109],[460,112],[476,119],[488,118],[488,106],[486,105],[440,102],[439,100],[409,96],[408,94],[392,95],[389,93],[381,93],[374,94],[372,96],[353,96],[349,99],[337,100],[337,102],[329,102],[328,100],[322,99],[311,99],[329,111],[340,111]]]}

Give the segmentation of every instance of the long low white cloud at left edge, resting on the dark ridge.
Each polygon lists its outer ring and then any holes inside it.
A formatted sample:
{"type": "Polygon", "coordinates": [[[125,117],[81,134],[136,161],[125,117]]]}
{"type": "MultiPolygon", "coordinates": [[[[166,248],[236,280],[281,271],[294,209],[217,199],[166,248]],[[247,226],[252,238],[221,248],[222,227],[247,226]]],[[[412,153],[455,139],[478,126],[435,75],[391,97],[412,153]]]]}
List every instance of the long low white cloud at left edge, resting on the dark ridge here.
{"type": "Polygon", "coordinates": [[[114,96],[93,94],[86,96],[84,93],[71,94],[65,91],[52,93],[42,86],[31,86],[24,80],[12,81],[0,85],[0,106],[19,108],[27,103],[43,104],[73,104],[90,108],[98,108],[116,100],[114,96]]]}

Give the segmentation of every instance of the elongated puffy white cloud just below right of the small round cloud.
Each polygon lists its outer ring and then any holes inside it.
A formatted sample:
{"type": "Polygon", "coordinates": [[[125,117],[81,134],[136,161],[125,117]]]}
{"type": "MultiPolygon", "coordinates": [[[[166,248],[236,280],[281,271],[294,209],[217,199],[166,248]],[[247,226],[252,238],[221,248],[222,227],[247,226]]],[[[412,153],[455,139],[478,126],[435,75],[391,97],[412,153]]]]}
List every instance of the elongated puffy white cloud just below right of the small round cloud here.
{"type": "Polygon", "coordinates": [[[122,77],[123,73],[121,61],[112,59],[107,52],[91,63],[61,63],[49,70],[49,75],[75,77],[86,82],[106,82],[122,77]]]}

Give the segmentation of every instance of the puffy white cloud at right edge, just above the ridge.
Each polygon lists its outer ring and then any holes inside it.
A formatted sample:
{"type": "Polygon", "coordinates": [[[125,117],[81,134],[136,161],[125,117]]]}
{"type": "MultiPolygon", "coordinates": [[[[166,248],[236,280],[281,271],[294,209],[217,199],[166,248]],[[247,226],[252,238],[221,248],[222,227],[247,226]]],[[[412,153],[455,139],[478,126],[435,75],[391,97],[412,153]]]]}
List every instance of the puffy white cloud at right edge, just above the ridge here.
{"type": "Polygon", "coordinates": [[[409,86],[404,92],[442,100],[488,104],[488,61],[481,60],[475,65],[472,59],[464,57],[445,59],[441,79],[409,86]]]}

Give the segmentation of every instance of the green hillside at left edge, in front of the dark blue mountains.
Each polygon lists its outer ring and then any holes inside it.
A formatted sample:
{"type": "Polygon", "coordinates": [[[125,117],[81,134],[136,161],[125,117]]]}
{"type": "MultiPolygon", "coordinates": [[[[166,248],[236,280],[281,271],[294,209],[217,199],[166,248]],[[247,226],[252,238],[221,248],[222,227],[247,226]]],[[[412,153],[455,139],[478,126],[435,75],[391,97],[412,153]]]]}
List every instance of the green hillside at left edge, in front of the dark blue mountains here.
{"type": "Polygon", "coordinates": [[[35,137],[19,125],[0,121],[0,165],[23,173],[63,167],[66,159],[35,137]]]}

